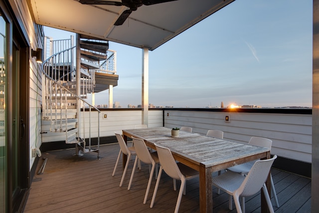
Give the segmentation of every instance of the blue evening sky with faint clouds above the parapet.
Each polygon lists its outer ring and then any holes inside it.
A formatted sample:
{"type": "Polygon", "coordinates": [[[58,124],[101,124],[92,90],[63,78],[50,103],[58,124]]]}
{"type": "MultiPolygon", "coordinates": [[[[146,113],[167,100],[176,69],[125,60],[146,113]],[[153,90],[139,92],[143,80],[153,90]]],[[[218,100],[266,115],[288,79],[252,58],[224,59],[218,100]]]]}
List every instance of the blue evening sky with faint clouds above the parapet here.
{"type": "MultiPolygon", "coordinates": [[[[149,103],[312,107],[312,39],[312,0],[235,0],[149,51],[149,103]]],[[[142,104],[142,49],[109,43],[119,75],[113,101],[142,104]]],[[[108,98],[108,90],[96,93],[95,104],[108,98]]]]}

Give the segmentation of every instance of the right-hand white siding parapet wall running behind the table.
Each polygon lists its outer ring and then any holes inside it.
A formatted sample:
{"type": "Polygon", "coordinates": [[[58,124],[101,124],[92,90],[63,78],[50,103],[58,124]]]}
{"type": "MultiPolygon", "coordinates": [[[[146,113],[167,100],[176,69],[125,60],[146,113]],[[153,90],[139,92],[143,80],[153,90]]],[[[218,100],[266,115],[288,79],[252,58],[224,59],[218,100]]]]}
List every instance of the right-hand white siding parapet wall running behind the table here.
{"type": "Polygon", "coordinates": [[[312,115],[169,110],[164,114],[166,127],[189,126],[201,134],[208,129],[221,130],[224,139],[237,142],[265,137],[273,141],[271,154],[311,163],[312,115]],[[225,122],[226,115],[230,122],[225,122]]]}

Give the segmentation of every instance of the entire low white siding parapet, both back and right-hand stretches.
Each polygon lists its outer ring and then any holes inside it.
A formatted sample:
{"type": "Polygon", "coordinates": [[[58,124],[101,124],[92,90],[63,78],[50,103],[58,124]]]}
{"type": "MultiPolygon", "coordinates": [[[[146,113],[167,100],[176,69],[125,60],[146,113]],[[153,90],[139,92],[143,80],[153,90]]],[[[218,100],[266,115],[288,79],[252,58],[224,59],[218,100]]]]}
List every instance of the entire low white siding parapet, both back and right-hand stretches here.
{"type": "MultiPolygon", "coordinates": [[[[85,112],[85,137],[89,136],[88,118],[85,112]]],[[[91,112],[93,128],[91,137],[97,137],[97,113],[91,112]]],[[[81,126],[83,119],[81,119],[81,126]]],[[[141,124],[141,111],[102,111],[100,114],[100,137],[113,136],[115,131],[133,129],[141,124]],[[103,114],[107,118],[103,119],[103,114]]],[[[224,132],[224,139],[248,142],[251,136],[269,138],[273,141],[272,154],[298,161],[311,163],[312,156],[312,115],[270,114],[270,113],[229,113],[197,111],[164,111],[166,127],[189,126],[193,132],[206,134],[209,129],[224,132]],[[168,116],[167,116],[168,113],[168,116]],[[225,116],[230,122],[225,122],[225,116]]],[[[149,127],[162,126],[162,111],[149,111],[149,127]]],[[[82,126],[83,128],[83,126],[82,126]]],[[[64,133],[50,133],[49,126],[43,126],[43,142],[65,140],[64,133]],[[58,136],[60,135],[60,136],[58,136]]],[[[83,137],[83,134],[81,135],[83,137]]]]}

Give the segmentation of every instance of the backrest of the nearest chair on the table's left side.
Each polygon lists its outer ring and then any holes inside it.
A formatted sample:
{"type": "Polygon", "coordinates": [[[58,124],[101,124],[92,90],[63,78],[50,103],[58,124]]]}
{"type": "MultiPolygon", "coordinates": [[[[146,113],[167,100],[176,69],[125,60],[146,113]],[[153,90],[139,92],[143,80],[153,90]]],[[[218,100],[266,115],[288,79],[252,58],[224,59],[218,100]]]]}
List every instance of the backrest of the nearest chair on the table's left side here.
{"type": "Polygon", "coordinates": [[[157,144],[155,144],[155,146],[160,159],[160,166],[165,173],[173,179],[181,180],[183,175],[181,174],[170,150],[157,144]]]}

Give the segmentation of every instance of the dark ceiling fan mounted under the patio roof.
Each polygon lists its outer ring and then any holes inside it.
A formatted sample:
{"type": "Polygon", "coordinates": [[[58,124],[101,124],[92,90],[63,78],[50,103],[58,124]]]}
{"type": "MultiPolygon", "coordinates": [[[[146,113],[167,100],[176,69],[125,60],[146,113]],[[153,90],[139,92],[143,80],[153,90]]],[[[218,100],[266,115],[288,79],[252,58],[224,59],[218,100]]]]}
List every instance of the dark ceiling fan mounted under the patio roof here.
{"type": "Polygon", "coordinates": [[[138,7],[144,5],[153,5],[157,3],[164,3],[175,0],[122,0],[111,1],[111,0],[78,0],[82,4],[100,4],[100,5],[113,5],[113,6],[127,6],[129,9],[124,10],[119,18],[115,21],[114,25],[122,25],[125,20],[129,17],[132,11],[136,11],[138,7]]]}

